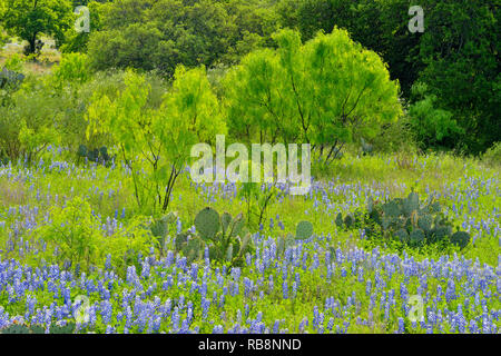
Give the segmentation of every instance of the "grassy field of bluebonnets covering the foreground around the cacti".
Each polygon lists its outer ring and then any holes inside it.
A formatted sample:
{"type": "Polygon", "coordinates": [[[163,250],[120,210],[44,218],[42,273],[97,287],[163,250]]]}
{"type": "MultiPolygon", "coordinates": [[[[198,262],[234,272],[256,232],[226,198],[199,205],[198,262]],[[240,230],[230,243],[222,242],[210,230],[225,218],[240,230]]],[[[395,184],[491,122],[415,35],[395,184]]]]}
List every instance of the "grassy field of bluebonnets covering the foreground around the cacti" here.
{"type": "Polygon", "coordinates": [[[401,168],[395,157],[345,157],[336,162],[337,177],[314,180],[307,196],[279,187],[269,218],[250,234],[254,251],[230,267],[212,261],[208,251],[188,263],[174,238],[194,229],[193,217],[204,206],[240,212],[235,185],[197,185],[183,172],[173,197],[177,218],[160,254],[148,219],[134,215],[124,166],[77,166],[61,160],[56,148],[29,168],[4,165],[0,328],[63,325],[81,307],[76,298],[86,296],[80,332],[498,333],[499,170],[433,155],[414,157],[410,166],[401,168]],[[335,222],[338,212],[355,211],[370,197],[404,197],[411,189],[421,199],[434,197],[469,231],[464,249],[403,248],[335,222]],[[65,229],[58,214],[85,225],[65,229]],[[312,221],[313,236],[281,251],[279,237],[294,233],[298,220],[312,221]],[[90,235],[91,243],[78,241],[90,235]],[[139,253],[126,260],[118,244],[139,253]],[[68,254],[78,248],[96,249],[99,257],[86,269],[69,265],[68,254]],[[422,319],[419,310],[412,317],[412,296],[422,297],[422,319]]]}

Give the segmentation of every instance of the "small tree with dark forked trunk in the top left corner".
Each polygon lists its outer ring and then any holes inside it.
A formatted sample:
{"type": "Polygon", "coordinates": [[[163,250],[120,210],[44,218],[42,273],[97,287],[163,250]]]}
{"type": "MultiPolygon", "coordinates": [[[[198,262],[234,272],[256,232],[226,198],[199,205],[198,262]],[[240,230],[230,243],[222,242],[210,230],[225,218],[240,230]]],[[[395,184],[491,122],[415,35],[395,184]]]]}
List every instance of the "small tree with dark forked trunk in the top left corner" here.
{"type": "Polygon", "coordinates": [[[69,0],[4,0],[6,12],[3,26],[12,36],[28,41],[26,52],[39,53],[43,43],[40,33],[53,36],[58,43],[63,41],[63,33],[72,24],[72,8],[69,0]]]}

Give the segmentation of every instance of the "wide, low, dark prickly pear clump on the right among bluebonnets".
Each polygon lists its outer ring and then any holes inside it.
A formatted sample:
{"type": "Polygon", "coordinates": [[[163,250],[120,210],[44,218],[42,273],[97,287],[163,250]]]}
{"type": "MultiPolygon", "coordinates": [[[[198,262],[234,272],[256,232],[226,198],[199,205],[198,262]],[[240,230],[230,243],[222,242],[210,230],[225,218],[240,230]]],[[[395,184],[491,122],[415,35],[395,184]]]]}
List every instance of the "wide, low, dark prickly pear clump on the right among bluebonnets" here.
{"type": "Polygon", "coordinates": [[[438,201],[421,205],[416,192],[383,204],[371,199],[365,216],[356,211],[343,218],[340,212],[335,222],[340,228],[348,229],[363,226],[367,237],[377,234],[383,237],[393,236],[410,246],[449,241],[464,248],[470,243],[468,233],[452,231],[452,224],[441,212],[438,201]]]}

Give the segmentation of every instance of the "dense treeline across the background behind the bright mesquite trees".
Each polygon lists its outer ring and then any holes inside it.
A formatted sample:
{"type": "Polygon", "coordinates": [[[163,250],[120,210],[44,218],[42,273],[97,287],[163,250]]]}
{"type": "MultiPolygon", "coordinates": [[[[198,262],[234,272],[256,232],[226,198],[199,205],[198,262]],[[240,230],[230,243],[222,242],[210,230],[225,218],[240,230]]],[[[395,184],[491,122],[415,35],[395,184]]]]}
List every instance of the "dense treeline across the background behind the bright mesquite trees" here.
{"type": "MultiPolygon", "coordinates": [[[[384,138],[366,137],[376,147],[391,142],[387,136],[395,132],[412,137],[422,149],[463,154],[480,154],[501,139],[498,0],[423,0],[423,33],[407,29],[409,8],[414,4],[409,0],[38,2],[31,17],[19,13],[27,11],[16,6],[27,6],[23,0],[3,0],[0,8],[6,19],[2,26],[27,39],[28,51],[36,51],[37,36],[47,33],[63,52],[86,52],[91,70],[136,68],[166,78],[174,76],[178,65],[204,65],[222,77],[247,53],[277,48],[274,33],[283,28],[297,30],[303,43],[318,31],[346,29],[354,41],[382,57],[391,79],[400,83],[405,115],[396,126],[379,123],[384,138]],[[75,32],[73,18],[53,16],[78,4],[90,9],[89,33],[75,32]],[[31,21],[35,14],[43,21],[31,21]],[[29,33],[27,29],[31,29],[29,33]]],[[[220,88],[215,89],[222,93],[220,88]]],[[[330,141],[347,139],[343,130],[330,135],[337,136],[330,141]]]]}

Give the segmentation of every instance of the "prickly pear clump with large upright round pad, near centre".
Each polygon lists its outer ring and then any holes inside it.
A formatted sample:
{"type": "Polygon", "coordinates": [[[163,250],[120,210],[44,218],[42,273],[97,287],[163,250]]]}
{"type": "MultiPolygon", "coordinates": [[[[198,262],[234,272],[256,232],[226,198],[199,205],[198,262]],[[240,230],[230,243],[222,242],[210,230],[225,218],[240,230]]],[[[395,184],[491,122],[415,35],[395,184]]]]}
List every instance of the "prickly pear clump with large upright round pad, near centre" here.
{"type": "Polygon", "coordinates": [[[206,248],[212,260],[232,266],[243,265],[245,254],[252,253],[250,234],[244,227],[242,214],[219,216],[207,207],[195,217],[195,229],[196,234],[180,233],[174,239],[175,250],[183,253],[189,263],[203,258],[206,248]]]}

